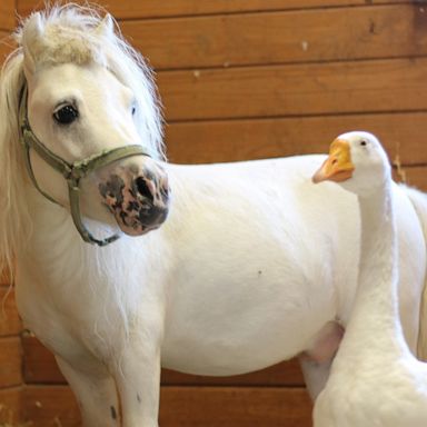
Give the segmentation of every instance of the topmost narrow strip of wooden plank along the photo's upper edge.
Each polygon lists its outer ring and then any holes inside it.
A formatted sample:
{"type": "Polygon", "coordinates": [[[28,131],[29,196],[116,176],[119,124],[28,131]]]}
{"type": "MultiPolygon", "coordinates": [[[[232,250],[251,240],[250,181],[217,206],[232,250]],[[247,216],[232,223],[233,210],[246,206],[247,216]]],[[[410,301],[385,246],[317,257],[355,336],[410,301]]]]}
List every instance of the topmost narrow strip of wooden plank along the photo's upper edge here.
{"type": "MultiPolygon", "coordinates": [[[[86,3],[83,0],[76,2],[86,3]]],[[[411,0],[112,0],[98,3],[105,6],[116,18],[137,19],[398,2],[409,3],[411,0]]],[[[40,0],[17,0],[17,3],[21,16],[42,8],[40,0]]]]}

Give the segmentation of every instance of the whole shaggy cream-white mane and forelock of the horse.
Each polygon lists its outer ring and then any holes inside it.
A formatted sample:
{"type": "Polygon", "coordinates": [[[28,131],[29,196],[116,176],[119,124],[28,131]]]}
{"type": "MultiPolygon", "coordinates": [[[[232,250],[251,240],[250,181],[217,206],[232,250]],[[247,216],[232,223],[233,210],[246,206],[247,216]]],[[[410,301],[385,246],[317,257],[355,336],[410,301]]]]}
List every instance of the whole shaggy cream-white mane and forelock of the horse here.
{"type": "Polygon", "coordinates": [[[161,107],[152,71],[122,38],[117,23],[108,19],[113,31],[100,31],[105,18],[98,8],[53,6],[24,19],[13,34],[18,48],[8,57],[0,75],[0,265],[11,271],[13,254],[31,232],[31,215],[22,196],[29,180],[18,129],[19,98],[26,81],[24,52],[36,53],[36,69],[66,62],[95,62],[108,68],[133,91],[142,111],[138,130],[145,148],[153,158],[166,159],[161,107]],[[31,37],[34,20],[41,24],[41,40],[31,37]]]}

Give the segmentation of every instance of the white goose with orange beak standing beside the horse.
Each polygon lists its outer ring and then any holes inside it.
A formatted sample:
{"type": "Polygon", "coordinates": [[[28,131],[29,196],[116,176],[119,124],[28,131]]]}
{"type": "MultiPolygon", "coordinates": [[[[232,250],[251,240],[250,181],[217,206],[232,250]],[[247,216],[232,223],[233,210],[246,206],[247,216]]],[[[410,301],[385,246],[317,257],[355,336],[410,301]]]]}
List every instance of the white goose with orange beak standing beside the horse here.
{"type": "Polygon", "coordinates": [[[331,375],[314,410],[315,427],[426,427],[427,364],[404,339],[398,315],[398,247],[390,165],[370,133],[349,132],[330,146],[314,176],[358,196],[359,284],[331,375]]]}

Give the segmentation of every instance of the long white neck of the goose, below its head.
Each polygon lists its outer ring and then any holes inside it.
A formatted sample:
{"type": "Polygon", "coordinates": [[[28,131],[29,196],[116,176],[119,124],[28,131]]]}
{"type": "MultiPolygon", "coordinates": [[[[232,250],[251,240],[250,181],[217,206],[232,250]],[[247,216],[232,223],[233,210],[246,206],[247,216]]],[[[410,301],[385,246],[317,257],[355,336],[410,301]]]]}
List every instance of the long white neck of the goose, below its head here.
{"type": "MultiPolygon", "coordinates": [[[[342,342],[357,351],[407,350],[397,302],[398,248],[391,183],[359,197],[361,220],[359,281],[354,310],[342,342]]],[[[345,346],[344,346],[345,347],[345,346]]]]}

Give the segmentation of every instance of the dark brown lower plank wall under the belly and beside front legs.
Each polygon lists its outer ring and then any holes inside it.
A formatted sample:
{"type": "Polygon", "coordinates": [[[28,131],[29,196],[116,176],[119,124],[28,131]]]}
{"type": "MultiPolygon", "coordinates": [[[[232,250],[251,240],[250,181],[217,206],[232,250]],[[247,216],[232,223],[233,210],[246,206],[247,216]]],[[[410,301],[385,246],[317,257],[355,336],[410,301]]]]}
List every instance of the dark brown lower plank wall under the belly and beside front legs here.
{"type": "MultiPolygon", "coordinates": [[[[34,426],[79,425],[78,409],[53,357],[31,336],[23,339],[26,418],[34,426]]],[[[196,377],[162,370],[160,426],[310,425],[310,401],[296,360],[251,375],[196,377]],[[220,410],[219,410],[220,409],[220,410]]]]}

